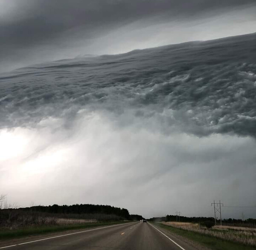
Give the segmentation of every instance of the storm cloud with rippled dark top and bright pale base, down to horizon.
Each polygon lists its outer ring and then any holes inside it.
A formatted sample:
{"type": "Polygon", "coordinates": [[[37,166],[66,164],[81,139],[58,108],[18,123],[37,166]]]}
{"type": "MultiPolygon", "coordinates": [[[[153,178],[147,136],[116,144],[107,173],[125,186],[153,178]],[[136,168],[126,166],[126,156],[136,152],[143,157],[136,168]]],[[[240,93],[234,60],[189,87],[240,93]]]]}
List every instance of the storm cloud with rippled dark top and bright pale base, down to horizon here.
{"type": "Polygon", "coordinates": [[[256,34],[0,75],[0,190],[145,217],[255,217],[256,34]]]}

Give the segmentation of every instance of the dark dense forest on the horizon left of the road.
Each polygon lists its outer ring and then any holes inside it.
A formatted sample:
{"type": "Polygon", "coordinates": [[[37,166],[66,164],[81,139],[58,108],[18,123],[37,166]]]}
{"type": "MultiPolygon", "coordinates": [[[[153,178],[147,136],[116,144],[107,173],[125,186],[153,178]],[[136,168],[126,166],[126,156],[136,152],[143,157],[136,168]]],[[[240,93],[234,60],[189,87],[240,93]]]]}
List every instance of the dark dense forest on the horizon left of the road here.
{"type": "Polygon", "coordinates": [[[110,205],[93,205],[93,204],[76,204],[76,205],[50,205],[50,206],[32,206],[17,208],[21,211],[33,211],[41,213],[53,214],[108,214],[116,215],[122,219],[140,220],[143,216],[137,214],[129,214],[125,208],[113,207],[110,205]]]}

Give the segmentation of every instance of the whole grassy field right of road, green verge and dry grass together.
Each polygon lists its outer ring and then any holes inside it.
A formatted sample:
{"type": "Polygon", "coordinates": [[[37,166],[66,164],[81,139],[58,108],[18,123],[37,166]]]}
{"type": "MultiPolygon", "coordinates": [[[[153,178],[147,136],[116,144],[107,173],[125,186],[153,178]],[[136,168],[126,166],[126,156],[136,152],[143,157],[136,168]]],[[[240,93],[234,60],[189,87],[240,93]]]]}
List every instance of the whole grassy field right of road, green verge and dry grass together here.
{"type": "Polygon", "coordinates": [[[198,224],[183,222],[163,222],[157,223],[158,226],[176,233],[192,241],[196,241],[212,250],[255,250],[256,234],[251,230],[233,230],[218,228],[201,228],[198,224]],[[243,237],[237,236],[240,233],[243,237]],[[232,235],[232,237],[230,237],[232,235]],[[239,237],[243,241],[239,240],[239,237]]]}

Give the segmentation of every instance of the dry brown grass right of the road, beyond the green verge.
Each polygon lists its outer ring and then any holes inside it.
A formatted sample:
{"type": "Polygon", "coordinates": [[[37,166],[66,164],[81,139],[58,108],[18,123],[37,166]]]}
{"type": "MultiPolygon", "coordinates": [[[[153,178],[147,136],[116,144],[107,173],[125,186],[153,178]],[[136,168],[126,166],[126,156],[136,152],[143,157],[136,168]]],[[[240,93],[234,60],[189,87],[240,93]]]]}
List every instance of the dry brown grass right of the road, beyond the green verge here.
{"type": "Polygon", "coordinates": [[[256,247],[256,228],[214,226],[210,229],[189,222],[162,222],[165,225],[203,233],[220,239],[239,242],[241,244],[256,247]]]}

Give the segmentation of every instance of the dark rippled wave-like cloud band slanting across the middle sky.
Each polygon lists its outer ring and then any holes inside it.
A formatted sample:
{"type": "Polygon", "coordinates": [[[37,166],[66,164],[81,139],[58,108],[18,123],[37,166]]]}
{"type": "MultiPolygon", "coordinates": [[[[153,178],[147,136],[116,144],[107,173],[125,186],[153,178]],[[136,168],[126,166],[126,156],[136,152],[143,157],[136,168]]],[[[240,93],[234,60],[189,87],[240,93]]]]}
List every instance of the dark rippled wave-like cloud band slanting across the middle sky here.
{"type": "Polygon", "coordinates": [[[1,125],[59,116],[69,106],[72,115],[85,105],[158,116],[167,133],[179,124],[198,136],[255,137],[255,40],[251,34],[14,71],[0,78],[1,125]]]}

